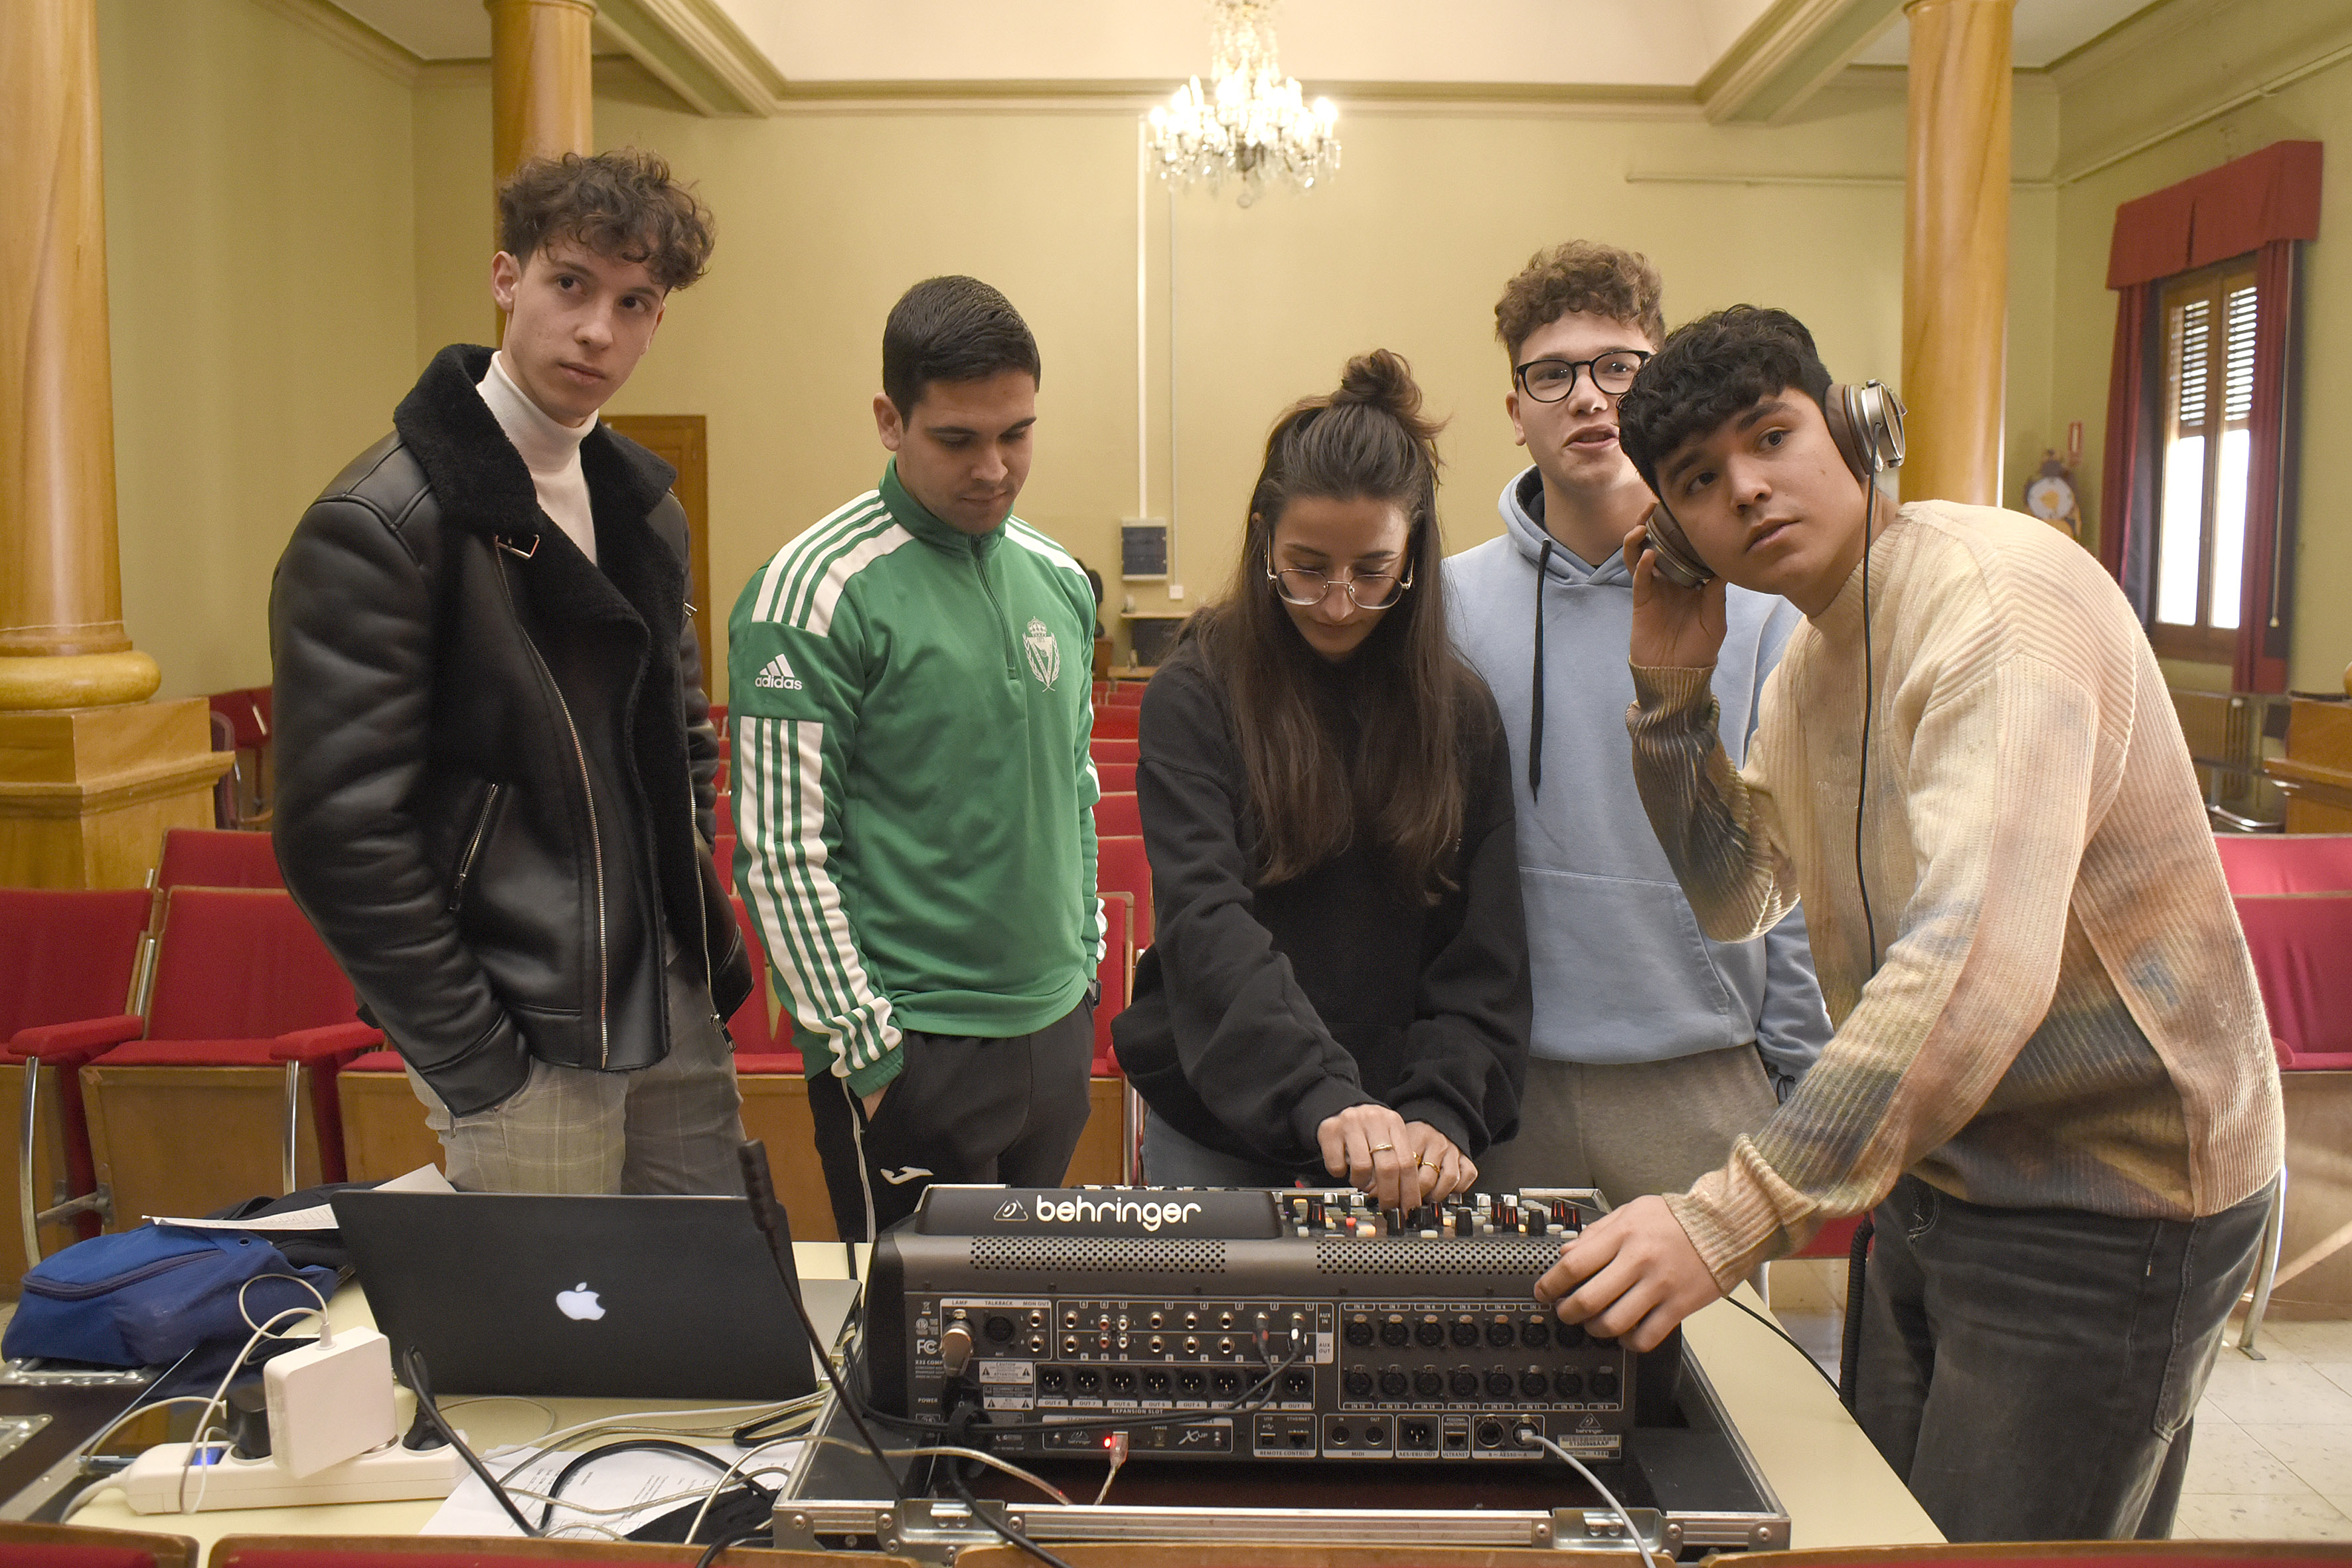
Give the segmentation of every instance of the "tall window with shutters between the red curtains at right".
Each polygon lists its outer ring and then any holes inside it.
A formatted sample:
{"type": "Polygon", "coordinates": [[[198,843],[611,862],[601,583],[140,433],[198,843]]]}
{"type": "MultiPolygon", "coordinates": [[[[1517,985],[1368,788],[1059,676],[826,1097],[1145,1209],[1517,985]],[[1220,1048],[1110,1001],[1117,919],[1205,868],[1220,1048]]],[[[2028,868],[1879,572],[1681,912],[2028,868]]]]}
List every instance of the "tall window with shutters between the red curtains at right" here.
{"type": "Polygon", "coordinates": [[[2147,635],[2159,654],[2230,663],[2253,456],[2253,263],[2164,287],[2164,465],[2147,635]]]}

